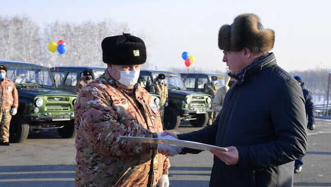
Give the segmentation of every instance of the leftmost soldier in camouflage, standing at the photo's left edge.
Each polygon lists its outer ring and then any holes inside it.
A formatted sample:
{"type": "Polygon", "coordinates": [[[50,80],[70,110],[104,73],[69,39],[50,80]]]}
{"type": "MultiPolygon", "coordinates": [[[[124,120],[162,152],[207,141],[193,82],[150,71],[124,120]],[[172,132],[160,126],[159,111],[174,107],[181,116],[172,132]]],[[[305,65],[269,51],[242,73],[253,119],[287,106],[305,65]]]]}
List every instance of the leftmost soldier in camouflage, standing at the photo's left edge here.
{"type": "Polygon", "coordinates": [[[9,144],[9,126],[12,116],[15,116],[18,108],[18,94],[15,83],[6,78],[7,68],[0,65],[0,145],[9,144]]]}

